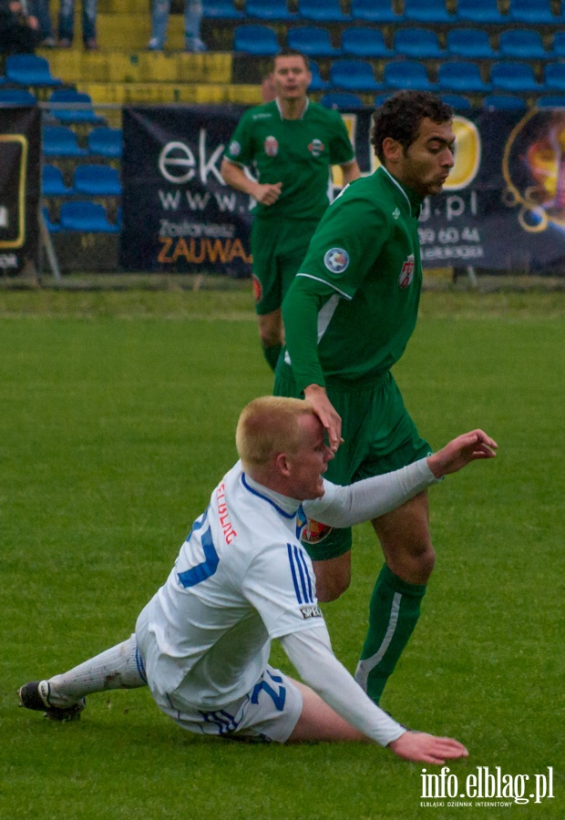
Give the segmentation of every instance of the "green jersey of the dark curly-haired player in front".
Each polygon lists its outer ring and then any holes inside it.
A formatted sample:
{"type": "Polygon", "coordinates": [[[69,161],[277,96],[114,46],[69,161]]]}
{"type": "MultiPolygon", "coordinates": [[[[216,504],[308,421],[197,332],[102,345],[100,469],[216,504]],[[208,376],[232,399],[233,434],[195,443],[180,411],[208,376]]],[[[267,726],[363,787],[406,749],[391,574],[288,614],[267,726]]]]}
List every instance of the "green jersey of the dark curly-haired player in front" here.
{"type": "Polygon", "coordinates": [[[381,167],[326,211],[282,305],[300,390],[369,381],[403,354],[422,286],[421,204],[381,167]]]}

